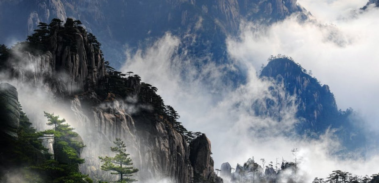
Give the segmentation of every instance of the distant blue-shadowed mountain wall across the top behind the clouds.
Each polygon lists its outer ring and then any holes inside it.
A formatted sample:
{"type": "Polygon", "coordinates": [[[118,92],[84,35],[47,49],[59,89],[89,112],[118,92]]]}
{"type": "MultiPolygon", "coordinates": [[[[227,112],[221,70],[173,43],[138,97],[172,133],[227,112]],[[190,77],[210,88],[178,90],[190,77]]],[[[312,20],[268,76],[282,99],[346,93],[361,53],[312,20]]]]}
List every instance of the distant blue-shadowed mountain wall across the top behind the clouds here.
{"type": "MultiPolygon", "coordinates": [[[[31,34],[38,22],[72,17],[97,35],[113,67],[124,63],[124,45],[135,51],[169,31],[182,40],[179,50],[199,69],[204,60],[233,64],[225,52],[225,39],[238,34],[241,20],[270,24],[292,13],[303,18],[307,14],[296,0],[3,0],[0,12],[0,34],[9,35],[0,37],[0,42],[9,46],[31,34]]],[[[244,69],[235,67],[238,70],[224,79],[243,82],[244,69]]]]}

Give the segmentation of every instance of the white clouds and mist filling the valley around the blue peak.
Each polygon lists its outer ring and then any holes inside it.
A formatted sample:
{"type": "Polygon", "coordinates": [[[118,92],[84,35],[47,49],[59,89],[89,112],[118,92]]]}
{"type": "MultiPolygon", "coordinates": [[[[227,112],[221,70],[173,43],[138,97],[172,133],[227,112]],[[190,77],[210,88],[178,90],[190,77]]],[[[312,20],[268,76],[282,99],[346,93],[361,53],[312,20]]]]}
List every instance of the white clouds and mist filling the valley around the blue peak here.
{"type": "Polygon", "coordinates": [[[208,62],[202,65],[201,71],[196,70],[193,60],[204,58],[179,54],[177,48],[182,38],[169,32],[144,50],[136,53],[125,50],[127,60],[121,71],[133,71],[143,82],[156,86],[157,93],[166,105],[177,110],[188,130],[207,134],[215,168],[227,161],[235,167],[253,156],[255,160],[265,158],[267,162],[276,158],[292,161],[291,149],[298,148],[302,170],[299,174],[306,181],[327,177],[336,169],[358,175],[378,173],[377,152],[356,160],[340,160],[331,155],[340,145],[333,131],[326,132],[319,140],[283,136],[292,133],[294,124],[298,123],[294,118],[294,98],[285,95],[280,86],[258,79],[256,72],[270,55],[291,56],[302,67],[312,70],[322,84],[329,85],[340,109],[352,107],[359,113],[367,133],[377,131],[379,9],[359,11],[365,0],[299,0],[298,3],[312,13],[312,20],[299,23],[294,15],[269,27],[243,21],[238,38],[225,40],[234,64],[248,71],[246,84],[235,89],[220,79],[223,68],[233,69],[232,66],[208,62]],[[251,109],[254,101],[271,98],[278,102],[268,92],[270,86],[288,103],[279,114],[284,117],[281,122],[255,116],[251,109]]]}

